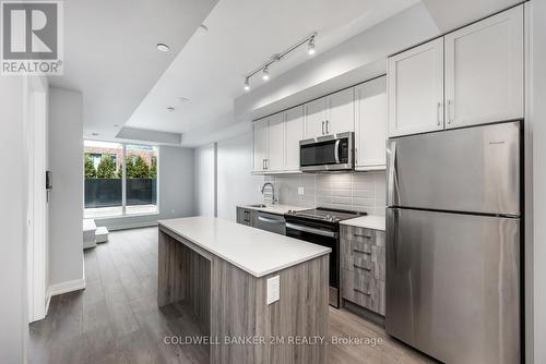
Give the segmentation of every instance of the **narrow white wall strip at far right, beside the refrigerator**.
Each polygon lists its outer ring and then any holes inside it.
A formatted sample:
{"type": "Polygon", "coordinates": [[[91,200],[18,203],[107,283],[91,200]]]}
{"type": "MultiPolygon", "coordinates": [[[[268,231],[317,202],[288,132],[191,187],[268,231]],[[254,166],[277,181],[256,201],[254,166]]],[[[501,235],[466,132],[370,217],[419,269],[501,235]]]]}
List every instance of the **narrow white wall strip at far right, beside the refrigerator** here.
{"type": "MultiPolygon", "coordinates": [[[[546,1],[531,1],[530,120],[533,132],[534,363],[546,363],[546,1]]],[[[531,236],[527,236],[531,238],[531,236]]],[[[529,246],[529,245],[527,245],[529,246]]],[[[529,296],[527,296],[529,298],[529,296]]],[[[527,361],[529,362],[529,361],[527,361]]]]}

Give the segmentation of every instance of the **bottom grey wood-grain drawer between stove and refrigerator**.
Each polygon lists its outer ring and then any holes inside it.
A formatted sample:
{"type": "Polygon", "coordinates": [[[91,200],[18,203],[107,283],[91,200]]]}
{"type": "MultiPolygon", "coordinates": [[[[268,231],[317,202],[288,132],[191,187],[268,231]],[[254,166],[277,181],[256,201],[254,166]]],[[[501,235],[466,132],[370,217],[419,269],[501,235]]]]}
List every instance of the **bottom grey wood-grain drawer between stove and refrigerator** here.
{"type": "Polygon", "coordinates": [[[369,274],[342,269],[342,296],[384,315],[384,281],[375,279],[369,274]]]}

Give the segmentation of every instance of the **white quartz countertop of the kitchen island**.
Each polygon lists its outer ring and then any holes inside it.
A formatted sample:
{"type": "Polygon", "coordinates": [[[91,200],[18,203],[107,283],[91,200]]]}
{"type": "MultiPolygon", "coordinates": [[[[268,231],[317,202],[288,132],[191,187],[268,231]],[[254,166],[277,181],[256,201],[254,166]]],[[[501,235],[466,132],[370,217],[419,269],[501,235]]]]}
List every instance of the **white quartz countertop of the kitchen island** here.
{"type": "Polygon", "coordinates": [[[212,217],[199,216],[158,222],[254,277],[266,276],[332,251],[325,246],[212,217]]]}

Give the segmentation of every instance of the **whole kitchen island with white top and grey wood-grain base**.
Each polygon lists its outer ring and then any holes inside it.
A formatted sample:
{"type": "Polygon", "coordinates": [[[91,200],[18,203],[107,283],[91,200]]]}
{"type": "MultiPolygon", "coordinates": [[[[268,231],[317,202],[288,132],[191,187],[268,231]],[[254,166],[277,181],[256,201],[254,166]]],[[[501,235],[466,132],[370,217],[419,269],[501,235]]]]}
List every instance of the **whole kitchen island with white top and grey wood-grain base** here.
{"type": "Polygon", "coordinates": [[[158,244],[157,304],[185,303],[211,363],[325,363],[330,248],[210,217],[158,244]]]}

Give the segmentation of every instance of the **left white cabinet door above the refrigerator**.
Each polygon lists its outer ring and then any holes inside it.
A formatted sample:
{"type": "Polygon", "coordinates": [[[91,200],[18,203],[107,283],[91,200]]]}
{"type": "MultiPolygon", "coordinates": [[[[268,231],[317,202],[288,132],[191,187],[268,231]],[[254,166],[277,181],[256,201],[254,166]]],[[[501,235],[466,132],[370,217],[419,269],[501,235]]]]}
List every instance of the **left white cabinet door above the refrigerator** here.
{"type": "Polygon", "coordinates": [[[389,58],[389,136],[443,129],[443,39],[389,58]]]}

